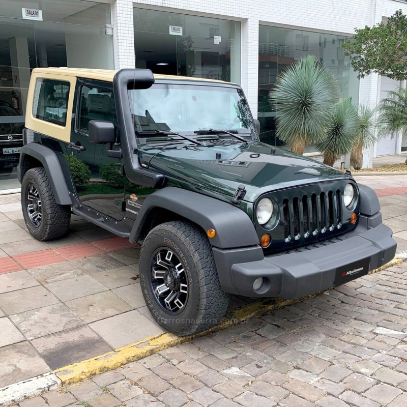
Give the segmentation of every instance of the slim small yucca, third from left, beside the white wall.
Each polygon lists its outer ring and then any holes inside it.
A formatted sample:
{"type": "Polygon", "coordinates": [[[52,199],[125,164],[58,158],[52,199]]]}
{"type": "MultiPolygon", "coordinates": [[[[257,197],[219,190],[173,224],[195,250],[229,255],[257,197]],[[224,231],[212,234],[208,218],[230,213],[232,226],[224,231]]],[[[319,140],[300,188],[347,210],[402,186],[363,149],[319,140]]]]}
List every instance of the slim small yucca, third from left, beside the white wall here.
{"type": "Polygon", "coordinates": [[[351,166],[355,169],[362,168],[363,149],[368,148],[380,138],[379,133],[376,133],[376,113],[376,107],[367,105],[359,106],[357,137],[351,151],[351,166]]]}

